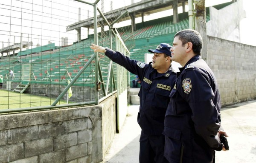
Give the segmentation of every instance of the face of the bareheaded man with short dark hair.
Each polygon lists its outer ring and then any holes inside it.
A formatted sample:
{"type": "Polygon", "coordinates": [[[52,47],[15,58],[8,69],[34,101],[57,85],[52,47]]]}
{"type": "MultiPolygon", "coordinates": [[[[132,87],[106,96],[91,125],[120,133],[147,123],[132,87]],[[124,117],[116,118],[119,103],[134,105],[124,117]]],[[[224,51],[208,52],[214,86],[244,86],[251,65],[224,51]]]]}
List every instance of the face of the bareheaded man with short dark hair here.
{"type": "Polygon", "coordinates": [[[186,47],[187,45],[185,44],[182,46],[182,42],[179,39],[179,37],[175,37],[173,39],[173,45],[172,48],[170,49],[171,55],[172,55],[172,60],[175,62],[180,63],[180,65],[183,64],[183,61],[186,56],[186,47]]]}

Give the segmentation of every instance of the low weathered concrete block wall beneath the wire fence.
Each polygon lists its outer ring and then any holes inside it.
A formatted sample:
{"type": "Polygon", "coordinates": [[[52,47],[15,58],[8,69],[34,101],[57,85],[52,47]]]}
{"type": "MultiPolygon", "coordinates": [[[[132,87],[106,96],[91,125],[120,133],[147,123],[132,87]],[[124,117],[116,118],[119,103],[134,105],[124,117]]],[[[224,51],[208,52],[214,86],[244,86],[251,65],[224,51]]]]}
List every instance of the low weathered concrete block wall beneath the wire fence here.
{"type": "Polygon", "coordinates": [[[115,100],[0,115],[0,163],[101,162],[115,133],[115,100]]]}

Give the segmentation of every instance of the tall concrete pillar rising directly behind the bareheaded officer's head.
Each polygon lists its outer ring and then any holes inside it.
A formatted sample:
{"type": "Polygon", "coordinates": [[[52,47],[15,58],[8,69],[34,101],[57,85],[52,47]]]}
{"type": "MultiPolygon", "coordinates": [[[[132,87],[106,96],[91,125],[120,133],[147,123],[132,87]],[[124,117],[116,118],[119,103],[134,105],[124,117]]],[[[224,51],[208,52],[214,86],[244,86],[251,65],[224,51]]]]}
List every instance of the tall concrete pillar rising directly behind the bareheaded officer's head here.
{"type": "Polygon", "coordinates": [[[201,51],[202,59],[206,62],[208,60],[207,54],[207,34],[206,34],[206,10],[205,10],[205,0],[199,0],[195,3],[195,30],[198,31],[203,39],[203,48],[201,51]]]}

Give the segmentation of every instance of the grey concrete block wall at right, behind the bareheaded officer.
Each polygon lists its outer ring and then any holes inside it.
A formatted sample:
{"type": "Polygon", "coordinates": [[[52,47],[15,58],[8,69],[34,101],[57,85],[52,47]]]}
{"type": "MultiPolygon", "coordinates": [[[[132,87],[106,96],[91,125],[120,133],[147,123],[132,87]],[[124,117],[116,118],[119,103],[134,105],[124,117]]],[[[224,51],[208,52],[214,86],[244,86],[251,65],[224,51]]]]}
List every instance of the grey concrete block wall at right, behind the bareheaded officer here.
{"type": "Polygon", "coordinates": [[[256,47],[210,36],[207,45],[222,106],[256,99],[256,47]]]}

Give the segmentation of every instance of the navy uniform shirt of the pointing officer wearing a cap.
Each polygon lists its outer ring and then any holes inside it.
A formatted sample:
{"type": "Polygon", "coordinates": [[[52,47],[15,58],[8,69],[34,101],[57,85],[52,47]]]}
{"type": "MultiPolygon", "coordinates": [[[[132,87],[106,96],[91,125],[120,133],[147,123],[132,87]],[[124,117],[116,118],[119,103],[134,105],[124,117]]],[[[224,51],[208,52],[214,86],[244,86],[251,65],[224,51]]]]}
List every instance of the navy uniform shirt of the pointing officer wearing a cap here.
{"type": "Polygon", "coordinates": [[[141,88],[138,94],[140,96],[138,123],[145,134],[162,135],[164,117],[170,101],[169,95],[176,79],[172,67],[166,73],[160,74],[151,64],[131,60],[118,51],[107,48],[105,55],[139,77],[141,88]]]}

